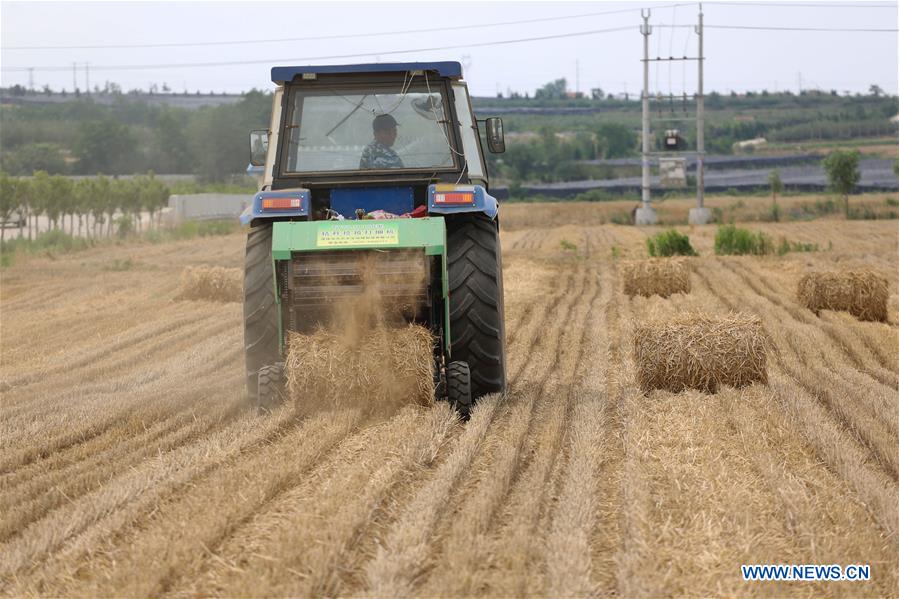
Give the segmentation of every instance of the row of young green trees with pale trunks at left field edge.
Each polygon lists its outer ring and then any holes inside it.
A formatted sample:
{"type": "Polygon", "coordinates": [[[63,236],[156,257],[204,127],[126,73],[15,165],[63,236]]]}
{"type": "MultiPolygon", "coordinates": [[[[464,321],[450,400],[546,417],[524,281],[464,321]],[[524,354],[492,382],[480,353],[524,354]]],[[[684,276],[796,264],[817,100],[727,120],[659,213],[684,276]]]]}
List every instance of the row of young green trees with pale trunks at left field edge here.
{"type": "Polygon", "coordinates": [[[36,238],[40,217],[47,219],[50,230],[88,238],[109,237],[113,226],[123,233],[140,231],[158,226],[168,199],[168,187],[152,172],[130,179],[72,179],[46,171],[13,177],[0,172],[0,222],[5,225],[0,240],[10,225],[28,240],[36,238]]]}

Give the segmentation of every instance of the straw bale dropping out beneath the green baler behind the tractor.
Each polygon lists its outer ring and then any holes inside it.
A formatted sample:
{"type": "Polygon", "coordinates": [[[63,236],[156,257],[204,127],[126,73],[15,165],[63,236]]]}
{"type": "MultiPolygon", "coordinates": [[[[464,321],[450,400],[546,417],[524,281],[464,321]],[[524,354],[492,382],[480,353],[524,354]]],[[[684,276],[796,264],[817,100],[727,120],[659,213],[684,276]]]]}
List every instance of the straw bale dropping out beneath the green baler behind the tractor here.
{"type": "Polygon", "coordinates": [[[434,399],[434,337],[420,325],[354,334],[288,334],[287,389],[298,406],[428,405],[434,399]]]}

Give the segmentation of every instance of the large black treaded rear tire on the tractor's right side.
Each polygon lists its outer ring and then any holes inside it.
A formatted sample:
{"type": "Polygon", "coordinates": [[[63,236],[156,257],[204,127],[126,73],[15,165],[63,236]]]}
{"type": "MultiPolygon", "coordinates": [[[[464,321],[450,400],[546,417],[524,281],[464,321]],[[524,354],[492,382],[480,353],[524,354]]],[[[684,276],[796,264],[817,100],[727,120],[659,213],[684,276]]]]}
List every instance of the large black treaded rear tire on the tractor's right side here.
{"type": "Polygon", "coordinates": [[[472,399],[506,387],[503,270],[496,223],[484,214],[448,218],[450,353],[471,369],[472,399]]]}

